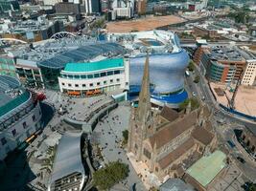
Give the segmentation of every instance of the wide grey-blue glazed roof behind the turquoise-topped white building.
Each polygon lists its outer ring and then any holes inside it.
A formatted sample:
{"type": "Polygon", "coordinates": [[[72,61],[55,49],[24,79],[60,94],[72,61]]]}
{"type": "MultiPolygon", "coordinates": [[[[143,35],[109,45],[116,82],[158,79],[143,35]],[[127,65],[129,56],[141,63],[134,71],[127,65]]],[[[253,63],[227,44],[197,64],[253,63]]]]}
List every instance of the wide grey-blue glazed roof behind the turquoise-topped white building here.
{"type": "Polygon", "coordinates": [[[99,42],[89,36],[49,39],[34,43],[33,48],[21,47],[9,51],[17,57],[17,62],[29,60],[41,67],[62,69],[66,63],[87,62],[99,55],[113,57],[126,53],[118,43],[99,42]]]}

